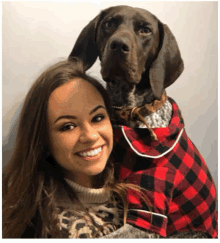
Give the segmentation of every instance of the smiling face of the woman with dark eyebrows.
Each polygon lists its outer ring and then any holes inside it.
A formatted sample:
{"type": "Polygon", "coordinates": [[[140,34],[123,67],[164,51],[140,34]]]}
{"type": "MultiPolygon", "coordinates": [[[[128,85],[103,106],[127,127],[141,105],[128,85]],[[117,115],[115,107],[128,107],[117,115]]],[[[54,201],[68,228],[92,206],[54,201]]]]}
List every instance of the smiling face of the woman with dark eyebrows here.
{"type": "Polygon", "coordinates": [[[50,149],[66,178],[91,187],[113,146],[112,126],[100,93],[73,79],[56,88],[48,101],[50,149]]]}

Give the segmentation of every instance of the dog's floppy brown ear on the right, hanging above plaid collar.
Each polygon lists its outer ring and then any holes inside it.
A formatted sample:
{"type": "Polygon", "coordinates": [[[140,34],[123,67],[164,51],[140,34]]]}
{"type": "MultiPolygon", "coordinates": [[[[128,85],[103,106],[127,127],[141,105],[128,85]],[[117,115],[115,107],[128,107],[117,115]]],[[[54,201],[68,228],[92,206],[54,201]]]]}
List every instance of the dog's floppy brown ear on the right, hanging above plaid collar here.
{"type": "Polygon", "coordinates": [[[152,63],[149,77],[156,99],[160,100],[163,91],[180,76],[184,69],[176,39],[167,25],[159,22],[160,50],[152,63]]]}

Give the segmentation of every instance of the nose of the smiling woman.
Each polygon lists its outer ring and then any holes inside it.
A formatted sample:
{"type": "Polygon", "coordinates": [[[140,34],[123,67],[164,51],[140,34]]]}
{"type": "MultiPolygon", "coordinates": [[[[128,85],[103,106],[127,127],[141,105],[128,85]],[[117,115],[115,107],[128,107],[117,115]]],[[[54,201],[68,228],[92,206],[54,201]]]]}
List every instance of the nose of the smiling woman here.
{"type": "Polygon", "coordinates": [[[90,124],[86,124],[83,126],[79,141],[81,143],[90,143],[98,140],[99,134],[97,130],[92,127],[90,124]]]}

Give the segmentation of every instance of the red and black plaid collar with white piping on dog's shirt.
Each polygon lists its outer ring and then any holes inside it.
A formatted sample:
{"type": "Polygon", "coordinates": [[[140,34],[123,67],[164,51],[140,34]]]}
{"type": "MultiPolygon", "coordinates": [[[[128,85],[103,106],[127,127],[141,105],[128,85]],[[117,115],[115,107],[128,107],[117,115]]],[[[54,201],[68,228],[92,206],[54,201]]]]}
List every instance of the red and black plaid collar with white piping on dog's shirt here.
{"type": "Polygon", "coordinates": [[[115,126],[114,139],[117,149],[122,149],[121,147],[127,149],[126,143],[120,142],[121,140],[126,140],[131,151],[142,157],[160,158],[169,153],[181,137],[184,122],[175,101],[171,98],[168,99],[172,105],[172,117],[169,125],[162,128],[152,128],[157,135],[158,141],[150,138],[150,133],[146,128],[115,126]]]}

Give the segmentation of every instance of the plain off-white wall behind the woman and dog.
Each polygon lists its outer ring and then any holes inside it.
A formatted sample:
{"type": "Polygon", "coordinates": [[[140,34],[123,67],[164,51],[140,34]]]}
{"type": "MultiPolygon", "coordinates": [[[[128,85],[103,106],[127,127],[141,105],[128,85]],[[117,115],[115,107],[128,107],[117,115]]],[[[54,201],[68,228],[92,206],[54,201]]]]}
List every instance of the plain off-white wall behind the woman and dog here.
{"type": "MultiPolygon", "coordinates": [[[[186,131],[217,186],[217,2],[3,2],[3,164],[10,158],[17,118],[31,84],[46,66],[68,57],[82,28],[102,9],[120,4],[149,10],[176,37],[185,70],[167,93],[179,105],[186,131]]],[[[89,74],[101,79],[99,61],[89,74]]]]}

